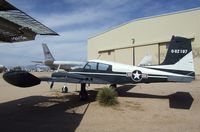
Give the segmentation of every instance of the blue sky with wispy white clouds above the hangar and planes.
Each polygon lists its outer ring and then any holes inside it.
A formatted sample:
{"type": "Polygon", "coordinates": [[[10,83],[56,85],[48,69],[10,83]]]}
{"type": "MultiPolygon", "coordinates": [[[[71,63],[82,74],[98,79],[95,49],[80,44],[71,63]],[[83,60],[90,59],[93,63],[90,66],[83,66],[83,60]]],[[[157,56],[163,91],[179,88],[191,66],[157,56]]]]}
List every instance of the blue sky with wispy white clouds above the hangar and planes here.
{"type": "Polygon", "coordinates": [[[43,60],[47,43],[57,60],[87,60],[87,39],[127,21],[200,7],[200,0],[8,0],[60,36],[0,44],[0,64],[43,60]]]}

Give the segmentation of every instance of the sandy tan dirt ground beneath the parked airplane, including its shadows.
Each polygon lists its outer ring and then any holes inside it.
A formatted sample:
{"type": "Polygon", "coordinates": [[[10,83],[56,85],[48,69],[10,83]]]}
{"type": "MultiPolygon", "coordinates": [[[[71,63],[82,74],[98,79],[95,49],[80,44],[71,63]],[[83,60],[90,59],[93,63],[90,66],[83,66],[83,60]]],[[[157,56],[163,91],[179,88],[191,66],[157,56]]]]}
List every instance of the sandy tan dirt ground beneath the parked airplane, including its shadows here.
{"type": "MultiPolygon", "coordinates": [[[[50,73],[35,73],[48,76],[50,73]]],[[[192,83],[119,86],[119,105],[102,107],[95,101],[99,88],[88,88],[89,100],[79,101],[79,85],[60,93],[43,82],[32,88],[7,84],[0,74],[1,132],[199,132],[200,79],[192,83]]]]}

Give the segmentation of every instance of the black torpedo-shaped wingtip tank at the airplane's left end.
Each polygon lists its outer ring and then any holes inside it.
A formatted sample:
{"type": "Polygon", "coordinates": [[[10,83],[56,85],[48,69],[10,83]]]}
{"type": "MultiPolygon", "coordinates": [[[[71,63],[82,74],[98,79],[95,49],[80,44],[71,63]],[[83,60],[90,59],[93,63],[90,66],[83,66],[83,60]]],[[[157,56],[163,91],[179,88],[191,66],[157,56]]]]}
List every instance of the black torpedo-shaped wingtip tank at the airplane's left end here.
{"type": "Polygon", "coordinates": [[[32,87],[40,84],[41,80],[26,71],[9,71],[4,73],[3,79],[17,87],[32,87]]]}

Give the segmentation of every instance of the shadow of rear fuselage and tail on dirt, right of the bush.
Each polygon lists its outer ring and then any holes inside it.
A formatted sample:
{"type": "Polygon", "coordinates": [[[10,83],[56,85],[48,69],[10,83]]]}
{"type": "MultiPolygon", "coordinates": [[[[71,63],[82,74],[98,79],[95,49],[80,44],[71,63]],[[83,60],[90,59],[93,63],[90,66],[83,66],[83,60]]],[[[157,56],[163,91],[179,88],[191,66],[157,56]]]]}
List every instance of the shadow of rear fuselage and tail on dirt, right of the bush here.
{"type": "Polygon", "coordinates": [[[128,92],[135,85],[124,85],[116,88],[120,97],[134,97],[134,98],[151,98],[151,99],[168,99],[169,107],[175,109],[190,109],[194,101],[189,92],[176,92],[170,95],[152,95],[144,93],[128,92]]]}

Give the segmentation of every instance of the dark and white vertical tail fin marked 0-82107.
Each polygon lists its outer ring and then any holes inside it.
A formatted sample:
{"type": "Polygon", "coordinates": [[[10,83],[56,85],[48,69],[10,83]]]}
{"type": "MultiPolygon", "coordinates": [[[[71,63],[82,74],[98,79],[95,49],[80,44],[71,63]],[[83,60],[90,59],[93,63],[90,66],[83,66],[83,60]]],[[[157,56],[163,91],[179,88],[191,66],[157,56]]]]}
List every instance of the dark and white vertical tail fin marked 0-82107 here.
{"type": "Polygon", "coordinates": [[[195,77],[191,39],[173,36],[162,66],[195,77]]]}

